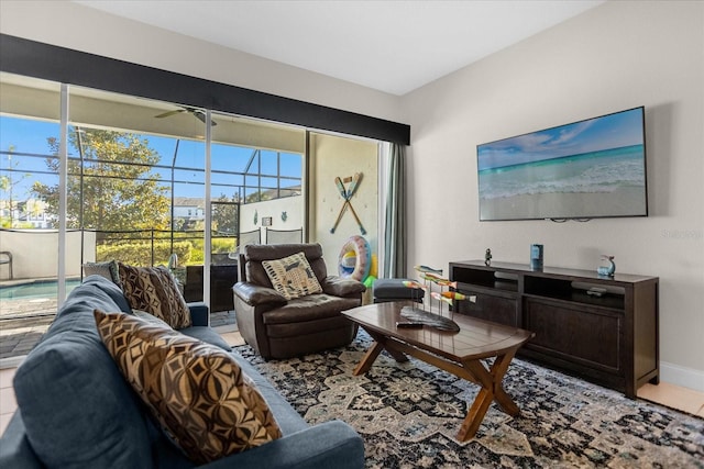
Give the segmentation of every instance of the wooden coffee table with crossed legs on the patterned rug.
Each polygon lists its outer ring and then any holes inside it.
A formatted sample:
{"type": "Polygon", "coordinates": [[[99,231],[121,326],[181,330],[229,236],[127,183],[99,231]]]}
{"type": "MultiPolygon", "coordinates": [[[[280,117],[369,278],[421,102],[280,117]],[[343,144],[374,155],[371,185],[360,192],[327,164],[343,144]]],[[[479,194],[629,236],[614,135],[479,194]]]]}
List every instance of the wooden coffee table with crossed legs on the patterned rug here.
{"type": "MultiPolygon", "coordinates": [[[[375,303],[342,312],[374,339],[354,369],[355,376],[365,373],[378,354],[386,349],[396,361],[407,361],[408,354],[481,386],[458,433],[461,442],[474,437],[492,401],[496,401],[508,415],[518,415],[520,411],[504,391],[502,381],[516,351],[534,333],[462,314],[452,316],[460,326],[459,333],[437,331],[429,326],[396,327],[396,322],[407,321],[400,315],[402,308],[406,305],[414,303],[375,303]],[[495,359],[488,367],[481,361],[492,357],[495,359]]],[[[418,303],[415,305],[418,306],[418,303]]]]}

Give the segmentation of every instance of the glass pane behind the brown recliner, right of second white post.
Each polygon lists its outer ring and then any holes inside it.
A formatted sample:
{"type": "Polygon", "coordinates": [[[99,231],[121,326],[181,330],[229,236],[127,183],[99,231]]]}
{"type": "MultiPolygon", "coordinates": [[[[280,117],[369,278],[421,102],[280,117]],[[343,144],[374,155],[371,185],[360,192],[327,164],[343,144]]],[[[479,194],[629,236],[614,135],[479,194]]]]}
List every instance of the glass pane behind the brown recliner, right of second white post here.
{"type": "Polygon", "coordinates": [[[233,308],[231,288],[242,245],[264,243],[268,227],[302,228],[305,132],[226,114],[212,119],[218,125],[211,145],[211,305],[218,311],[233,308]],[[283,154],[289,161],[286,179],[280,177],[283,154]],[[280,188],[290,186],[299,197],[280,199],[280,188]]]}

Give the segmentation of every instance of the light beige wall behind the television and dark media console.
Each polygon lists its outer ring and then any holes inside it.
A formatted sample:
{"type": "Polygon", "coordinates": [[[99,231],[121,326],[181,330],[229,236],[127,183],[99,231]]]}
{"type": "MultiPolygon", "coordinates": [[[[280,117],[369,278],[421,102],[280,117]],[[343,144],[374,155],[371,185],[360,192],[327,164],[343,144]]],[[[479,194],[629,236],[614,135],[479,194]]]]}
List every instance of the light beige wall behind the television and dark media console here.
{"type": "Polygon", "coordinates": [[[620,272],[660,277],[663,380],[704,391],[704,2],[609,1],[403,101],[409,266],[483,258],[487,247],[494,260],[527,264],[531,243],[551,266],[596,269],[613,254],[620,272]],[[477,144],[638,105],[649,217],[477,221],[477,144]]]}

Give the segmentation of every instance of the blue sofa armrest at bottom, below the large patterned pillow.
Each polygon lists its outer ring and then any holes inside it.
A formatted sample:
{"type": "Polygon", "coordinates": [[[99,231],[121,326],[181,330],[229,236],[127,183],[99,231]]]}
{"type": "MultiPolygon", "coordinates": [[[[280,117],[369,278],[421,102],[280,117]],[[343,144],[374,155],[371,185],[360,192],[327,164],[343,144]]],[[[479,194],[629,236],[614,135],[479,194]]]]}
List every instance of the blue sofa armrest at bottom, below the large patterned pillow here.
{"type": "Polygon", "coordinates": [[[364,443],[342,421],[326,422],[301,432],[212,461],[208,469],[361,469],[364,443]]]}

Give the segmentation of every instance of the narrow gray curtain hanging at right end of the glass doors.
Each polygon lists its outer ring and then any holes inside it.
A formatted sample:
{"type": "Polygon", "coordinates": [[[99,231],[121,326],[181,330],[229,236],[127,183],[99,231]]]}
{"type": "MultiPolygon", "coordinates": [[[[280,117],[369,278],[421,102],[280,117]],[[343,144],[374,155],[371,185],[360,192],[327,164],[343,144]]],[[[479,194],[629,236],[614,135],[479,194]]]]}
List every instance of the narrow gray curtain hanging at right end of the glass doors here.
{"type": "Polygon", "coordinates": [[[406,152],[391,145],[384,236],[384,278],[406,277],[406,152]]]}

